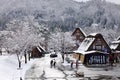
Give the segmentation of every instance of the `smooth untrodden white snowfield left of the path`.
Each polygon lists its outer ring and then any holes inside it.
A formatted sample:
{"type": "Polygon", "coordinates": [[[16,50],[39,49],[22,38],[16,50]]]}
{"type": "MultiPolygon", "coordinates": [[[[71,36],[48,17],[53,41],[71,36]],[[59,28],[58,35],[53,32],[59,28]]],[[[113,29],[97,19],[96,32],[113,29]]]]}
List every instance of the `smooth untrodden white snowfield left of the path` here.
{"type": "Polygon", "coordinates": [[[0,80],[19,80],[20,76],[24,77],[26,70],[34,62],[33,59],[27,64],[22,60],[22,69],[18,69],[18,61],[16,55],[0,56],[0,80]]]}

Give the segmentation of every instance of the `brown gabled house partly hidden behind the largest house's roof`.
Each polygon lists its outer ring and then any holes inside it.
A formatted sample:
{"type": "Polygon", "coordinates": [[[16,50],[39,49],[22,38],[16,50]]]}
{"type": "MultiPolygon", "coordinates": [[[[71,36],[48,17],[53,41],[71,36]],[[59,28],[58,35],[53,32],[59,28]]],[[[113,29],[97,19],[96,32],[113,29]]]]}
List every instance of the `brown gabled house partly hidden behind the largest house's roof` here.
{"type": "Polygon", "coordinates": [[[76,42],[76,48],[79,47],[79,44],[85,39],[86,34],[82,31],[81,28],[76,28],[72,33],[72,38],[76,42]]]}

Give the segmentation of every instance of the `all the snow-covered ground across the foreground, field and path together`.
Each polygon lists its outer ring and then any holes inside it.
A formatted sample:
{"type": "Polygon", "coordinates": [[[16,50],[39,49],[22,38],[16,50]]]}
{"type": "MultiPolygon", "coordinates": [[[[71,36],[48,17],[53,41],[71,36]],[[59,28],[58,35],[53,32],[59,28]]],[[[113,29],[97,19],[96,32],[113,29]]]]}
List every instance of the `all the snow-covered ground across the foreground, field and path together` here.
{"type": "MultiPolygon", "coordinates": [[[[69,58],[75,61],[71,55],[69,58]]],[[[88,68],[80,63],[78,69],[76,69],[75,64],[73,69],[71,69],[70,63],[66,61],[62,63],[61,55],[56,58],[50,58],[50,55],[46,54],[45,57],[31,59],[27,64],[24,63],[23,59],[22,68],[18,69],[16,55],[3,54],[0,56],[0,80],[20,80],[20,77],[22,77],[22,80],[80,80],[80,78],[75,76],[75,71],[84,73],[84,78],[92,77],[96,79],[100,75],[106,75],[112,76],[112,78],[104,80],[119,80],[118,77],[120,77],[119,64],[112,68],[88,68]],[[52,59],[56,60],[55,68],[50,67],[52,59]]]]}

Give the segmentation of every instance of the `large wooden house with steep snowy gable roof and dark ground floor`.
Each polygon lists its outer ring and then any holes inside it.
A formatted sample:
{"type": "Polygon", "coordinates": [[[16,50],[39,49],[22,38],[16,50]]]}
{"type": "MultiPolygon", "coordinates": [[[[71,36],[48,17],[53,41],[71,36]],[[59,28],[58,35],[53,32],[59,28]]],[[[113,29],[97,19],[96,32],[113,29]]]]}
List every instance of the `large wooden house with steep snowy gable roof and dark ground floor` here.
{"type": "Polygon", "coordinates": [[[111,49],[101,34],[93,33],[88,35],[74,52],[73,57],[83,64],[105,64],[111,49]]]}

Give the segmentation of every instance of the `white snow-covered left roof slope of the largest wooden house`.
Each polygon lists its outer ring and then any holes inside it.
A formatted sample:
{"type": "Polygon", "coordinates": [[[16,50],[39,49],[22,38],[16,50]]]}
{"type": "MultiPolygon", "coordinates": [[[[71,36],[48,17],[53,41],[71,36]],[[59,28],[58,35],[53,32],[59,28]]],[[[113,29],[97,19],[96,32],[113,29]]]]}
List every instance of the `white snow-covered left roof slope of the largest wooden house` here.
{"type": "Polygon", "coordinates": [[[79,51],[87,51],[88,48],[90,47],[90,45],[93,43],[93,41],[95,40],[95,38],[85,38],[83,40],[83,42],[80,44],[78,50],[79,51]]]}

